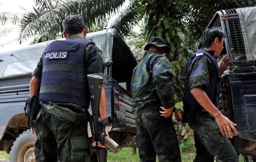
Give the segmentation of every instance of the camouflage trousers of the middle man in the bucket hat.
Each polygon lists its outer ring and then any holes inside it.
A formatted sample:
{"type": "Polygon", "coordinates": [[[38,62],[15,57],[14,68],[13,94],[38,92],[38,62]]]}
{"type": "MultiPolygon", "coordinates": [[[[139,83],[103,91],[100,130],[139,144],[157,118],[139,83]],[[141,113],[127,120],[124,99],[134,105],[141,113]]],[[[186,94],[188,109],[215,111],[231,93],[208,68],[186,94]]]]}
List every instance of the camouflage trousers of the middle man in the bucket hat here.
{"type": "Polygon", "coordinates": [[[135,119],[141,162],[181,162],[179,142],[172,116],[164,118],[150,110],[135,119]]]}

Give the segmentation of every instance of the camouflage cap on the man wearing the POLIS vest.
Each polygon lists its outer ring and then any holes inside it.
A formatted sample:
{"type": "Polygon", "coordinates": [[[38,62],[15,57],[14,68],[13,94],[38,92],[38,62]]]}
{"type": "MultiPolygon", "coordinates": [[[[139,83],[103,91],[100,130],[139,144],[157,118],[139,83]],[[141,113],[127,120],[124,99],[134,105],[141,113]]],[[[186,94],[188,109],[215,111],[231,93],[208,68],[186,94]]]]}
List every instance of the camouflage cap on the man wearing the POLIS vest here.
{"type": "Polygon", "coordinates": [[[71,15],[71,16],[65,17],[62,21],[63,29],[66,29],[67,27],[73,26],[73,25],[85,26],[84,19],[79,15],[71,15]]]}

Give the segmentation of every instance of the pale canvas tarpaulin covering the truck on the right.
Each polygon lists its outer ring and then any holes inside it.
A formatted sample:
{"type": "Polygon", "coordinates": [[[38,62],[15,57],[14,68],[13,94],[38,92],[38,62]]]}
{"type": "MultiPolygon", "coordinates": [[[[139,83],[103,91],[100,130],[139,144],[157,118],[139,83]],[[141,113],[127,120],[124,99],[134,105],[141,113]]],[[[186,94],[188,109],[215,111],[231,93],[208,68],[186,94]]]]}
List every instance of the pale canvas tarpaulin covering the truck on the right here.
{"type": "Polygon", "coordinates": [[[256,61],[256,7],[238,8],[246,58],[256,61]]]}

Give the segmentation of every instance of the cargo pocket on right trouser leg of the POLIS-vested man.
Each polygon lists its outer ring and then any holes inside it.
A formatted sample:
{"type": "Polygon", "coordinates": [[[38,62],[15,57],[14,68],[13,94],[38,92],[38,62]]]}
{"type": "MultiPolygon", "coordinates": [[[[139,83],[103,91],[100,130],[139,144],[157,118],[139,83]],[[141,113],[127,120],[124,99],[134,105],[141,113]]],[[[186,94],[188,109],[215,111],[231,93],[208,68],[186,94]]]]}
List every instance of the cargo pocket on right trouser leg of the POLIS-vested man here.
{"type": "Polygon", "coordinates": [[[89,139],[85,136],[70,137],[72,150],[89,148],[89,139]]]}

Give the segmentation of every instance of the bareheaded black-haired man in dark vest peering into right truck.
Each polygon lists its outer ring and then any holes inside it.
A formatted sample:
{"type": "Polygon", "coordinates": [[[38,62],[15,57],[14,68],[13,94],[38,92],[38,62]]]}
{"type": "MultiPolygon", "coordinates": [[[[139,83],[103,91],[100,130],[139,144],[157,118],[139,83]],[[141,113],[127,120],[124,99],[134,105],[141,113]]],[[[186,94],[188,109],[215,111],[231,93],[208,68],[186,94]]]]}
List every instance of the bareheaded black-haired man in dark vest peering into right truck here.
{"type": "Polygon", "coordinates": [[[228,68],[227,55],[222,58],[220,67],[216,61],[222,52],[224,37],[219,27],[206,29],[202,34],[202,49],[197,50],[187,64],[183,118],[199,139],[195,141],[197,155],[194,162],[209,161],[209,153],[216,157],[216,161],[238,162],[228,139],[233,137],[231,130],[237,134],[236,124],[216,107],[219,77],[228,68]]]}

